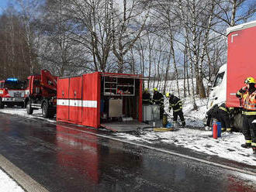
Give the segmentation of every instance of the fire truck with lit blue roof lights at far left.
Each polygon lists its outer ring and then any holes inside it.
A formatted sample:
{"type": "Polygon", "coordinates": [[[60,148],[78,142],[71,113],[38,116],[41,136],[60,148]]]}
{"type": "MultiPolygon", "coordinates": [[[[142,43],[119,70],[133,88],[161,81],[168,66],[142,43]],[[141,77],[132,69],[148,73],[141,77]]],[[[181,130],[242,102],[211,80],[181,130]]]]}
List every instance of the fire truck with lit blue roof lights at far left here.
{"type": "Polygon", "coordinates": [[[0,108],[12,107],[14,105],[24,106],[24,81],[17,78],[8,78],[0,81],[0,108]]]}

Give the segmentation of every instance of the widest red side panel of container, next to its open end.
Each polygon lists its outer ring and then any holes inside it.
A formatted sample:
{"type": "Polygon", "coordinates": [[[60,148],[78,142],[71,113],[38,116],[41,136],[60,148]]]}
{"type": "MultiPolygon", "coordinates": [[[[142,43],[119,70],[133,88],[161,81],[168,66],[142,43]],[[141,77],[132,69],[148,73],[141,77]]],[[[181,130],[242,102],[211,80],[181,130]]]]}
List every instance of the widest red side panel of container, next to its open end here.
{"type": "Polygon", "coordinates": [[[98,128],[100,119],[100,76],[99,73],[83,75],[82,124],[98,128]]]}

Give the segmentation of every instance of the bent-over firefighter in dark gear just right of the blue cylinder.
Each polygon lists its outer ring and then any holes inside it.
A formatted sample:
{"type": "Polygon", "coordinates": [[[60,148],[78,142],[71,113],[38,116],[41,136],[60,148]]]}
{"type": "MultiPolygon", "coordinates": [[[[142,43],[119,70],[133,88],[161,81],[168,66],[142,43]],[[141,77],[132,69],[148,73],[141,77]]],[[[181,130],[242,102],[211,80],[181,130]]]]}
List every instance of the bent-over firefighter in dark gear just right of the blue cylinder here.
{"type": "Polygon", "coordinates": [[[233,108],[227,108],[225,103],[219,106],[216,118],[219,122],[221,122],[221,131],[231,132],[231,126],[230,126],[230,111],[232,111],[233,108]]]}

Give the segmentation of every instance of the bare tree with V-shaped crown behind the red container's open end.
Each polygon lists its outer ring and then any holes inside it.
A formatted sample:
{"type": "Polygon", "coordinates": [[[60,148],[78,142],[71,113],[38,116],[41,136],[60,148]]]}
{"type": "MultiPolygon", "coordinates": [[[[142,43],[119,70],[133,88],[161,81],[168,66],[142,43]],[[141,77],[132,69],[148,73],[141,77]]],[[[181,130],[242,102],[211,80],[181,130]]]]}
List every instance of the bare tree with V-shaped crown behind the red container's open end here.
{"type": "Polygon", "coordinates": [[[110,1],[112,9],[112,51],[118,61],[117,70],[123,73],[124,57],[140,38],[146,26],[149,9],[142,9],[137,0],[110,1]],[[122,2],[122,3],[120,3],[122,2]],[[116,9],[119,5],[119,9],[116,9]]]}

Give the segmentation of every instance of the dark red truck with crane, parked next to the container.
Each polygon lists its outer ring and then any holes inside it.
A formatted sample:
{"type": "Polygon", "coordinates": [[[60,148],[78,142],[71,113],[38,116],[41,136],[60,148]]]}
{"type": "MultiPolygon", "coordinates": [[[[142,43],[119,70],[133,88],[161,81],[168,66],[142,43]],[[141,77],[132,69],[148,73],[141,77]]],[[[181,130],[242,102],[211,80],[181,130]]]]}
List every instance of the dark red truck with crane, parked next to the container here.
{"type": "Polygon", "coordinates": [[[33,110],[42,109],[44,118],[53,118],[56,114],[57,77],[48,70],[41,70],[40,75],[27,78],[25,93],[26,112],[33,114],[33,110]]]}

